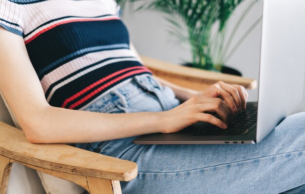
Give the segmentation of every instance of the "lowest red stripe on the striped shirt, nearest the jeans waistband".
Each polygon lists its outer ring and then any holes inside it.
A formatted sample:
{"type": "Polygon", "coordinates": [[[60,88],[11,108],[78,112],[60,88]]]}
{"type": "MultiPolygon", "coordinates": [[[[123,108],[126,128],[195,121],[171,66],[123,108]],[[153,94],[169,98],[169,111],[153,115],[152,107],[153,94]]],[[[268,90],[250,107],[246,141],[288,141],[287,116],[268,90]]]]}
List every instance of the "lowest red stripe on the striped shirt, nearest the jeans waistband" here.
{"type": "Polygon", "coordinates": [[[100,86],[99,88],[97,88],[95,91],[93,91],[92,93],[88,94],[87,96],[83,97],[82,99],[78,100],[76,103],[72,104],[69,109],[74,109],[76,106],[84,103],[86,100],[90,99],[91,97],[95,96],[98,92],[102,91],[103,89],[111,86],[112,84],[114,84],[115,82],[123,79],[123,78],[127,78],[129,76],[132,76],[134,74],[139,74],[139,73],[143,73],[143,72],[150,72],[149,70],[146,69],[142,69],[142,70],[134,70],[131,72],[128,72],[127,74],[124,74],[123,76],[120,76],[118,78],[115,78],[114,80],[105,83],[104,85],[100,86]]]}

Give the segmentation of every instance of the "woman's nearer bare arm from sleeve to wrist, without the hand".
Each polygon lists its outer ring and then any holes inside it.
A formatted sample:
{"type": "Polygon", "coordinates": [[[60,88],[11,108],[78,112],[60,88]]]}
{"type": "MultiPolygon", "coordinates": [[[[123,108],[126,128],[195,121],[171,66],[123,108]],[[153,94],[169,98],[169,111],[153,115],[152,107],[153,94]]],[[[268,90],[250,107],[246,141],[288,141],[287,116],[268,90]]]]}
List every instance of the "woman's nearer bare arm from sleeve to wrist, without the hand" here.
{"type": "Polygon", "coordinates": [[[0,89],[28,139],[36,143],[102,141],[154,133],[160,128],[155,113],[100,114],[50,106],[23,39],[2,28],[0,89]]]}

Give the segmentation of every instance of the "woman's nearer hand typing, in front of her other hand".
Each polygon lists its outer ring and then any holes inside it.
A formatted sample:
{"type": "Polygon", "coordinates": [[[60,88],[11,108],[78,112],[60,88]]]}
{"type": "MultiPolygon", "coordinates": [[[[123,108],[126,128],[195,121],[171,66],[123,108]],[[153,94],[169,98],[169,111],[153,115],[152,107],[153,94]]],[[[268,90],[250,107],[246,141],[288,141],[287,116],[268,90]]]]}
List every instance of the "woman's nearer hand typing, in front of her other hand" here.
{"type": "Polygon", "coordinates": [[[233,115],[228,104],[220,98],[192,97],[172,110],[161,112],[166,121],[162,133],[175,133],[199,121],[209,122],[226,129],[226,122],[233,115]],[[216,112],[221,119],[206,112],[216,112]]]}

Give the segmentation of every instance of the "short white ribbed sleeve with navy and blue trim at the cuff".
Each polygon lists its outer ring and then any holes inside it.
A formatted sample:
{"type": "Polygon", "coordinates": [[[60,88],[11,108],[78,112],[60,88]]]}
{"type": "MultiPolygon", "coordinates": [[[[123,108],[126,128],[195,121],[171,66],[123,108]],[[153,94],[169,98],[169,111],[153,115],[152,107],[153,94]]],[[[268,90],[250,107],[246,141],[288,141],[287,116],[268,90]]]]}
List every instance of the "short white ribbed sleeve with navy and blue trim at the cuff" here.
{"type": "Polygon", "coordinates": [[[0,0],[0,26],[23,37],[21,5],[11,0],[0,0]]]}

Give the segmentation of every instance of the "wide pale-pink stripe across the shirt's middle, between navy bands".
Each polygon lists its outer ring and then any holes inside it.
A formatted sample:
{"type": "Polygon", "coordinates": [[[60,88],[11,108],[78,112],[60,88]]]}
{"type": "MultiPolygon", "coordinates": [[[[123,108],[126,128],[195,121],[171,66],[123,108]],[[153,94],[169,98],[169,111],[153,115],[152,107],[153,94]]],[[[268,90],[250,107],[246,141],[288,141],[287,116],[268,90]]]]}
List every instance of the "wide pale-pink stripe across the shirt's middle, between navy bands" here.
{"type": "Polygon", "coordinates": [[[101,61],[106,58],[118,58],[118,57],[135,57],[134,53],[129,49],[117,49],[110,51],[100,51],[96,53],[89,53],[80,58],[76,58],[64,65],[61,65],[57,69],[48,73],[41,79],[41,85],[43,91],[46,92],[51,84],[57,82],[58,80],[65,78],[66,76],[87,67],[91,64],[94,64],[98,61],[101,61]]]}

